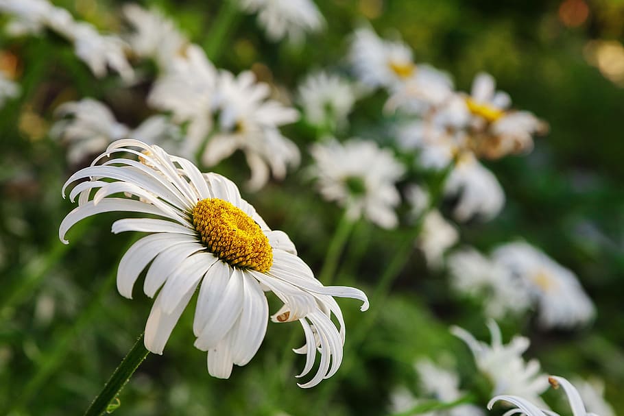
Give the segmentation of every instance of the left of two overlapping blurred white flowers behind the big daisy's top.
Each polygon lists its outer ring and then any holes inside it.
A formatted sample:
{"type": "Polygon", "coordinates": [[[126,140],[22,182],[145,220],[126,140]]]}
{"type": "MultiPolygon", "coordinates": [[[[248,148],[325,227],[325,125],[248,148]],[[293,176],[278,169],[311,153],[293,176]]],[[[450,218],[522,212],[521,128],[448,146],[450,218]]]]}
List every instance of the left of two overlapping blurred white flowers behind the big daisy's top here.
{"type": "Polygon", "coordinates": [[[213,130],[211,116],[217,88],[217,69],[204,50],[189,45],[184,56],[173,58],[167,72],[156,79],[147,102],[158,110],[172,113],[176,123],[188,122],[182,156],[194,156],[213,130]]]}

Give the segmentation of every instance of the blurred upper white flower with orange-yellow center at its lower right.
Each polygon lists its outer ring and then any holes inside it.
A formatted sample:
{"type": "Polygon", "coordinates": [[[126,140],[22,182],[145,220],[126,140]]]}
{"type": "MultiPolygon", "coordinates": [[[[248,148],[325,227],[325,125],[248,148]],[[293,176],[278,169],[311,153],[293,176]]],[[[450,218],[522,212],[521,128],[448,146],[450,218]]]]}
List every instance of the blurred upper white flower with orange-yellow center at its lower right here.
{"type": "Polygon", "coordinates": [[[361,27],[353,34],[349,60],[355,75],[370,87],[394,90],[416,70],[411,49],[405,43],[383,40],[369,27],[361,27]]]}

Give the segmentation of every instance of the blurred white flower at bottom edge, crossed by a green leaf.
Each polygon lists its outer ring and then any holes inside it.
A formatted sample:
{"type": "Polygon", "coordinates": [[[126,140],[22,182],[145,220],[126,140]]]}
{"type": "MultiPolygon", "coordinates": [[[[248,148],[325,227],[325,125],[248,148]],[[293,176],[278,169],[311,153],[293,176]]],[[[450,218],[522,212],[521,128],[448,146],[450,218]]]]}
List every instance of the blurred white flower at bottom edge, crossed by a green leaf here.
{"type": "MultiPolygon", "coordinates": [[[[435,365],[428,358],[418,360],[414,365],[420,380],[422,392],[443,403],[455,402],[464,396],[459,390],[459,376],[455,371],[435,365]]],[[[483,411],[473,404],[460,404],[446,411],[423,413],[428,416],[481,416],[483,411]]]]}

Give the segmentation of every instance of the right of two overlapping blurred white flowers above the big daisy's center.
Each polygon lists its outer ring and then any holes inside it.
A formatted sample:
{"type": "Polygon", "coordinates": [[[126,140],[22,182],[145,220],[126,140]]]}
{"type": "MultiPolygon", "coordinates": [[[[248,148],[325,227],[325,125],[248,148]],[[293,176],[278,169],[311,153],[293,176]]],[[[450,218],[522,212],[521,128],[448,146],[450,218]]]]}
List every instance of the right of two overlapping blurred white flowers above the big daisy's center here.
{"type": "Polygon", "coordinates": [[[297,121],[299,113],[268,99],[270,92],[267,84],[256,82],[251,71],[237,77],[221,71],[213,99],[215,132],[202,154],[202,161],[212,166],[237,149],[243,151],[252,173],[252,189],[266,184],[269,171],[275,178],[283,179],[287,167],[297,166],[300,160],[299,149],[278,129],[297,121]]]}

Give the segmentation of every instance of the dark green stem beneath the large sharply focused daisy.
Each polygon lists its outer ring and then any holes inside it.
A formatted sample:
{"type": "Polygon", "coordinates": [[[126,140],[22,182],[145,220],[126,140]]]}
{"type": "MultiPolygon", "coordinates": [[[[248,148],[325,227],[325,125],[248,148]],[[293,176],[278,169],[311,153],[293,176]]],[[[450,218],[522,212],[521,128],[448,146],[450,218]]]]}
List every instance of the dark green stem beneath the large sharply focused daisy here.
{"type": "Polygon", "coordinates": [[[104,389],[95,397],[91,406],[86,410],[84,416],[99,416],[106,411],[111,411],[113,408],[119,406],[119,403],[112,404],[125,383],[130,380],[134,371],[143,363],[149,351],[143,344],[144,333],[141,334],[139,339],[136,340],[132,350],[128,352],[128,355],[123,358],[119,367],[110,376],[108,382],[104,385],[104,389]]]}

